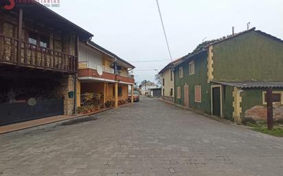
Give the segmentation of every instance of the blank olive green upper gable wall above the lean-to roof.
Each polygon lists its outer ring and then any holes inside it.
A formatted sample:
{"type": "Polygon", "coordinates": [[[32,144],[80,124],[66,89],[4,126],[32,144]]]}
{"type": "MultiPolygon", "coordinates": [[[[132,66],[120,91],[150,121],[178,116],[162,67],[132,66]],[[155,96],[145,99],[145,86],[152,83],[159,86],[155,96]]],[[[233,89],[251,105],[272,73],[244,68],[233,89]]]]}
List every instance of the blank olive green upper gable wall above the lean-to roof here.
{"type": "Polygon", "coordinates": [[[227,81],[283,81],[283,43],[248,32],[214,45],[213,75],[227,81]]]}

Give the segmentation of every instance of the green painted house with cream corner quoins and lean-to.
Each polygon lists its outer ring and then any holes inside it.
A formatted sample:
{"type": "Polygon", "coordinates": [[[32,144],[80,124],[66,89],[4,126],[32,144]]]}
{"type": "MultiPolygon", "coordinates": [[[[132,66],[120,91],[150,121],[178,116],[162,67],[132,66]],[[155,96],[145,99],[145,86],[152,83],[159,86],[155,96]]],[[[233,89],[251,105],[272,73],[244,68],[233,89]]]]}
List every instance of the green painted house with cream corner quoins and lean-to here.
{"type": "Polygon", "coordinates": [[[273,118],[283,120],[283,41],[256,30],[214,40],[174,67],[175,103],[242,122],[267,118],[266,89],[273,88],[273,118]]]}

